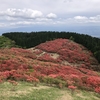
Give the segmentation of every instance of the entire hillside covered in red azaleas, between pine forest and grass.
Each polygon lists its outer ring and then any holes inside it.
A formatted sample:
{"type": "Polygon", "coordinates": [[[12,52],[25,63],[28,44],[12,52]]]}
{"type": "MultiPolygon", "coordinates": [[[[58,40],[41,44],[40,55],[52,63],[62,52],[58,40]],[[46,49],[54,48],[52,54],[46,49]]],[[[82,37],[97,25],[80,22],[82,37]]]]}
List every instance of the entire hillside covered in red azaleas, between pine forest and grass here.
{"type": "Polygon", "coordinates": [[[93,54],[68,39],[47,41],[30,49],[0,49],[0,82],[28,81],[35,86],[43,82],[100,93],[99,71],[93,54]]]}

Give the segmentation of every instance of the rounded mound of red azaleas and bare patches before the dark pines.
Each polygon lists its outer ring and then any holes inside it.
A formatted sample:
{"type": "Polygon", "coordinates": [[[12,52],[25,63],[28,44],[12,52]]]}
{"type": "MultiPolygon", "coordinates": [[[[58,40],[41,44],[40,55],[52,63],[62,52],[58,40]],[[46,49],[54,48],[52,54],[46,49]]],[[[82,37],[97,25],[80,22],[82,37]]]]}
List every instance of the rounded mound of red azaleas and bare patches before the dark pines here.
{"type": "Polygon", "coordinates": [[[98,61],[87,48],[68,39],[42,43],[33,48],[32,52],[38,53],[37,59],[41,61],[100,70],[98,61]]]}

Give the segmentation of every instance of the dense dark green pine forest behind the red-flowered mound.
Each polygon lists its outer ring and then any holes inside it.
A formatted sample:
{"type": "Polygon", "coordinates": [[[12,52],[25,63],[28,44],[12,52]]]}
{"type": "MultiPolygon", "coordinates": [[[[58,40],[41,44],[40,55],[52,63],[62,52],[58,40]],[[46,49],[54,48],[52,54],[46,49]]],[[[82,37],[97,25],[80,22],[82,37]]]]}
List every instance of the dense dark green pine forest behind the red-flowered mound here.
{"type": "Polygon", "coordinates": [[[88,48],[100,63],[100,39],[85,34],[74,32],[10,32],[4,33],[3,36],[15,41],[16,45],[22,48],[34,47],[40,43],[54,40],[57,38],[71,39],[88,48]]]}

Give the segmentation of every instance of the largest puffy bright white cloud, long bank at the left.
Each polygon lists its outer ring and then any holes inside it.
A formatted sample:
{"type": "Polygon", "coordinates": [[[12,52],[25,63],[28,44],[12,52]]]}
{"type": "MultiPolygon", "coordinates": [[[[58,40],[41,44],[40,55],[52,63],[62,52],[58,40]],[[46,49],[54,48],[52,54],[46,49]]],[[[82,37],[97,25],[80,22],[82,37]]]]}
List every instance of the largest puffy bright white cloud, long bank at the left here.
{"type": "Polygon", "coordinates": [[[0,11],[1,16],[8,16],[13,18],[39,18],[43,14],[41,11],[32,10],[32,9],[7,9],[6,11],[0,11]]]}

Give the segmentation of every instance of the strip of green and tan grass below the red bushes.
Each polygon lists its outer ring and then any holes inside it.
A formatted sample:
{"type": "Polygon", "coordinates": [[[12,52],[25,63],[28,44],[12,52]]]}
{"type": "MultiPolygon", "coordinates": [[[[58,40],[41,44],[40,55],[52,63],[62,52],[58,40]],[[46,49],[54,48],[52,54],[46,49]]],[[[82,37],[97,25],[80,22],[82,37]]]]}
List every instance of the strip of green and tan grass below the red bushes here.
{"type": "Polygon", "coordinates": [[[68,89],[39,86],[27,82],[19,82],[17,86],[5,82],[0,84],[0,100],[100,100],[94,92],[77,90],[74,94],[68,89]]]}

